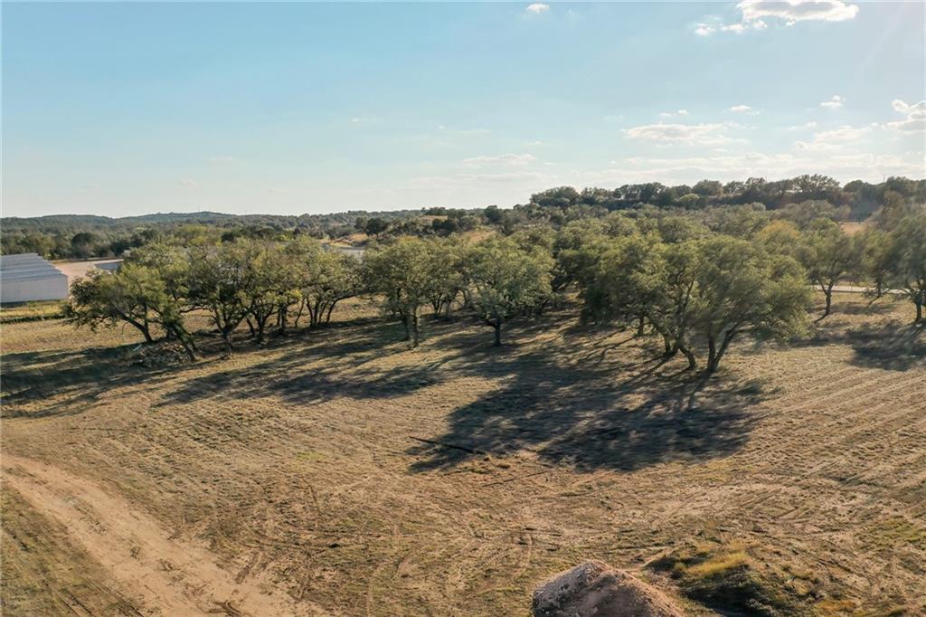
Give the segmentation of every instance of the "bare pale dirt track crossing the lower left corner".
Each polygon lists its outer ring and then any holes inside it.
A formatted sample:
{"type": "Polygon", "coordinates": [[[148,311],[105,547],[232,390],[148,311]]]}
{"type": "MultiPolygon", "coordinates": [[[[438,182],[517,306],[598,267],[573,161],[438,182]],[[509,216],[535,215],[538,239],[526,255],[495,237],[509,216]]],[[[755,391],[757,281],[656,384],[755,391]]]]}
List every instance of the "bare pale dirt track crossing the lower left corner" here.
{"type": "Polygon", "coordinates": [[[64,525],[153,614],[327,614],[254,579],[236,582],[205,548],[173,538],[160,523],[84,478],[7,453],[3,472],[7,485],[64,525]]]}

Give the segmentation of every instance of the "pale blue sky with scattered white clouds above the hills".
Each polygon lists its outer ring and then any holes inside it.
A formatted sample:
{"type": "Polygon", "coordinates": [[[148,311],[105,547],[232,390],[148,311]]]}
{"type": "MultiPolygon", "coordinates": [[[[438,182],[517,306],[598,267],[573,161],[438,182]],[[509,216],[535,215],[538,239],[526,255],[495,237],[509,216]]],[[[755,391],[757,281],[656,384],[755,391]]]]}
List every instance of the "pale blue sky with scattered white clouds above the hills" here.
{"type": "Polygon", "coordinates": [[[3,214],[926,175],[924,4],[12,4],[3,214]]]}

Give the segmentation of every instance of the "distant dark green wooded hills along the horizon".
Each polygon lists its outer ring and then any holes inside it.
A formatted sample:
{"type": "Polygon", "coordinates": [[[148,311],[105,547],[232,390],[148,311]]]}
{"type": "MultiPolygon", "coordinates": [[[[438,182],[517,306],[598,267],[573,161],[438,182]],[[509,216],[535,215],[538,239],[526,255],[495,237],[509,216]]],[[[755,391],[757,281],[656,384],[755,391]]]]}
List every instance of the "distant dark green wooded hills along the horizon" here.
{"type": "Polygon", "coordinates": [[[216,212],[151,214],[110,219],[56,215],[5,218],[0,248],[4,255],[38,253],[46,258],[120,257],[131,249],[170,236],[221,236],[274,240],[308,235],[336,239],[358,233],[383,239],[404,235],[445,237],[480,227],[505,234],[546,222],[555,227],[569,220],[601,218],[608,212],[658,208],[682,212],[709,212],[745,204],[760,204],[770,211],[800,208],[826,202],[839,220],[866,220],[883,208],[926,202],[926,181],[903,177],[883,183],[857,180],[840,184],[829,176],[802,175],[767,181],[720,183],[702,180],[688,184],[624,184],[614,189],[582,190],[560,186],[531,195],[513,208],[420,208],[391,212],[348,211],[301,216],[244,215],[216,212]]]}

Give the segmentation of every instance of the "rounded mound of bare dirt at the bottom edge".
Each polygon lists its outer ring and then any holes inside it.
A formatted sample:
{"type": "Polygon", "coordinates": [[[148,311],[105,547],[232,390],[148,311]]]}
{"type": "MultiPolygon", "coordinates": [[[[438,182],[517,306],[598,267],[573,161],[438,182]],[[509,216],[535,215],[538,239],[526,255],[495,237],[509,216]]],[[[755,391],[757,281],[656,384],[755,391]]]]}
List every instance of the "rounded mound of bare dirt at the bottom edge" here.
{"type": "Polygon", "coordinates": [[[534,617],[683,617],[669,598],[601,561],[557,574],[533,592],[534,617]]]}

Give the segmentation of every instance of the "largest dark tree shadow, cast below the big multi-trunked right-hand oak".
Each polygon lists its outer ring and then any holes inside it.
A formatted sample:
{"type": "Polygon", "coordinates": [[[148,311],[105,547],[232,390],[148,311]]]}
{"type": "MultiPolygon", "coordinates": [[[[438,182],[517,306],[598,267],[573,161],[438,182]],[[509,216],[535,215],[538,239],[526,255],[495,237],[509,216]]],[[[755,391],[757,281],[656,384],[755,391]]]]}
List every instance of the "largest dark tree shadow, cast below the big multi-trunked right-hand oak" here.
{"type": "Polygon", "coordinates": [[[649,363],[616,382],[621,373],[613,367],[569,366],[537,353],[507,360],[513,381],[454,410],[449,430],[409,448],[423,457],[411,469],[530,450],[554,464],[633,471],[743,447],[756,419],[749,408],[762,397],[758,384],[707,382],[661,368],[649,363]]]}

